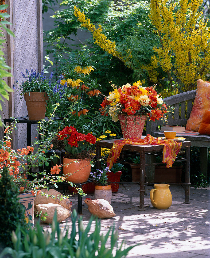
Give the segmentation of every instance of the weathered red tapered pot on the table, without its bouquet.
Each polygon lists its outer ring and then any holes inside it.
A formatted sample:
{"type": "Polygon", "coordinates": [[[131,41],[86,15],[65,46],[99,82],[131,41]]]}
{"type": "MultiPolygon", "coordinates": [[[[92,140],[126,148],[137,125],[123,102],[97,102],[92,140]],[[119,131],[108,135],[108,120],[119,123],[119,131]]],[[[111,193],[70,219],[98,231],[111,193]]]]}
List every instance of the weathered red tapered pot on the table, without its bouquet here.
{"type": "Polygon", "coordinates": [[[147,116],[118,115],[122,129],[123,139],[142,137],[147,116]]]}

